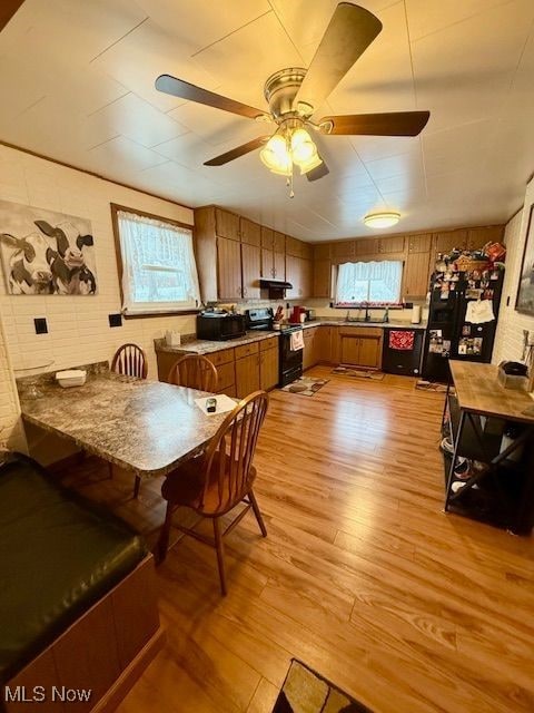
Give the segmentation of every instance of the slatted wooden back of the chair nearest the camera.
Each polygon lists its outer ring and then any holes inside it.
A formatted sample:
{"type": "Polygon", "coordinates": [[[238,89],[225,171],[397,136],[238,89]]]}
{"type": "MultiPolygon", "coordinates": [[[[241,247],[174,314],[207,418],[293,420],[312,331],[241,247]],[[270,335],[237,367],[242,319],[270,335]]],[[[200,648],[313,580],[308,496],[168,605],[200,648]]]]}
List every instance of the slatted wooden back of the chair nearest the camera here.
{"type": "Polygon", "coordinates": [[[269,397],[256,391],[243,399],[226,417],[206,450],[206,480],[201,511],[208,515],[231,510],[249,491],[259,429],[264,422],[269,397]],[[217,490],[218,501],[206,502],[208,490],[217,490]],[[208,509],[209,508],[209,509],[208,509]]]}

